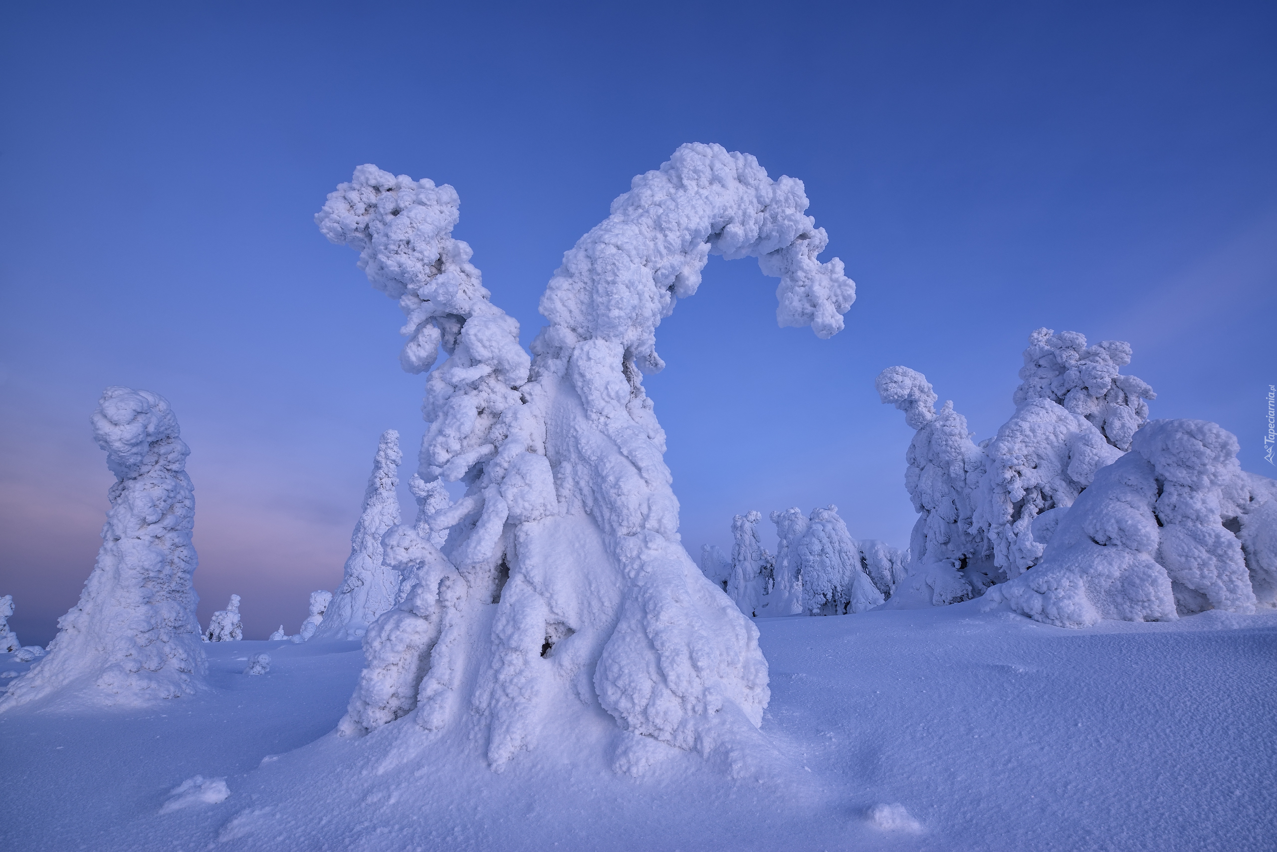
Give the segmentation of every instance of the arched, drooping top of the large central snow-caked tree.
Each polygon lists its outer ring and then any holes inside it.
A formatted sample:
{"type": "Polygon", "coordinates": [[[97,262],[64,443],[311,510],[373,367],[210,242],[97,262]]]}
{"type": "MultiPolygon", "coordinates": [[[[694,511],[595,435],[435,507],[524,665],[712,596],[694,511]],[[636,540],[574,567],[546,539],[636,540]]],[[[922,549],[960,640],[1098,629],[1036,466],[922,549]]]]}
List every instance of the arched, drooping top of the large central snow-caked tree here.
{"type": "MultiPolygon", "coordinates": [[[[660,371],[656,327],[674,301],[701,283],[709,255],[756,256],[776,287],[776,321],[811,325],[820,338],[843,329],[856,284],[838,258],[819,263],[829,237],[805,216],[802,181],[773,181],[750,154],[722,145],[684,144],[659,170],[638,175],[612,214],[563,255],[541,296],[552,328],[549,348],[605,339],[624,347],[626,362],[660,371]]],[[[533,351],[540,353],[536,343],[533,351]]]]}

